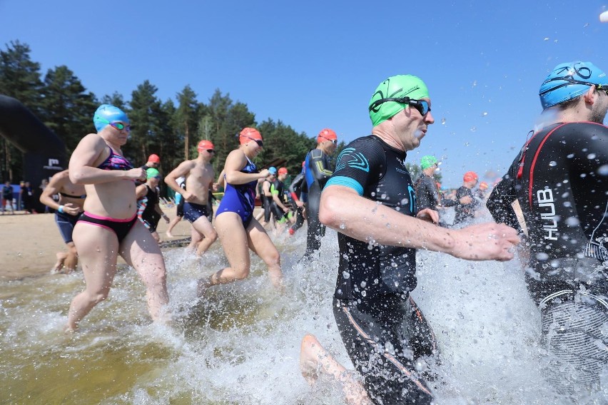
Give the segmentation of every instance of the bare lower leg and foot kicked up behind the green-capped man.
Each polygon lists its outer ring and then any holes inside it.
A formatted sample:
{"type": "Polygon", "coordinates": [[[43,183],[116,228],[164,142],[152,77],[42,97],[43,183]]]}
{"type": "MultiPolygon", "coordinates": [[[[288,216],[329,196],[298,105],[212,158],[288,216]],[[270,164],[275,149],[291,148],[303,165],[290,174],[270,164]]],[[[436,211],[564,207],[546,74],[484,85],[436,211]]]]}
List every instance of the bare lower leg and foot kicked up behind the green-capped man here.
{"type": "Polygon", "coordinates": [[[308,384],[313,385],[320,371],[342,385],[348,405],[373,405],[363,385],[321,346],[316,337],[307,334],[300,344],[300,372],[308,384]]]}

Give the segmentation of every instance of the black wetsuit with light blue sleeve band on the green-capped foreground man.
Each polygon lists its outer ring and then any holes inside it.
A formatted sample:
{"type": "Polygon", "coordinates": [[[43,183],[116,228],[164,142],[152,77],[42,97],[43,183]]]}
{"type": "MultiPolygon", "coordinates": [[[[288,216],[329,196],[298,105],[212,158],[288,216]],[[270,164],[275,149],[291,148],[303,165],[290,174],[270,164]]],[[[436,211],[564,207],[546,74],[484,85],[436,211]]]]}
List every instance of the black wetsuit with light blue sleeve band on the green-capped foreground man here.
{"type": "MultiPolygon", "coordinates": [[[[375,135],[354,140],[340,153],[326,187],[331,185],[415,216],[405,152],[375,135]]],[[[436,350],[435,336],[410,297],[417,284],[416,250],[370,245],[342,233],[338,244],[334,316],[365,389],[376,404],[430,404],[430,389],[414,366],[436,350]]]]}

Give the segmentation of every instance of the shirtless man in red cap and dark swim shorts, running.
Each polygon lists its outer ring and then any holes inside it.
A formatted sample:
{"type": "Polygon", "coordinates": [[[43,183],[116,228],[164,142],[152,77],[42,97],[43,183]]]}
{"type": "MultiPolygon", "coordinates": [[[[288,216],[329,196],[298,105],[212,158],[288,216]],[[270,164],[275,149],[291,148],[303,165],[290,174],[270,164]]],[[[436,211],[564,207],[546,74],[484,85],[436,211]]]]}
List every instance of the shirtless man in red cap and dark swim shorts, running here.
{"type": "Polygon", "coordinates": [[[196,255],[201,256],[218,238],[209,221],[210,212],[207,210],[209,190],[213,188],[215,180],[215,172],[210,162],[216,150],[209,140],[201,140],[197,149],[198,158],[180,163],[166,175],[165,183],[173,191],[180,193],[185,201],[183,217],[192,224],[192,240],[188,248],[196,249],[196,255]],[[176,181],[180,176],[186,178],[186,190],[176,181]]]}

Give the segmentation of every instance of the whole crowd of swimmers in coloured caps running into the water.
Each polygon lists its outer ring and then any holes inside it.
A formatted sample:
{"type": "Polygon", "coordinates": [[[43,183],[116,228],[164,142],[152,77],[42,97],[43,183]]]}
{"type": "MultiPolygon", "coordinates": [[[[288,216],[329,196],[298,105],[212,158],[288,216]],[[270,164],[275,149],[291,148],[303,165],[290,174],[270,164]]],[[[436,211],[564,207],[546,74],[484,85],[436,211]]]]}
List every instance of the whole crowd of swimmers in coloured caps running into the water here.
{"type": "MultiPolygon", "coordinates": [[[[338,136],[321,130],[288,190],[285,168],[255,165],[263,148],[257,129],[240,131],[238,147],[219,175],[211,165],[213,143],[201,140],[198,157],[164,178],[180,195],[182,216],[192,224],[190,248],[203,254],[219,239],[228,259],[228,267],[198,280],[198,296],[204,299],[214,285],[248,277],[250,250],[265,262],[271,284],[281,292],[280,252],[264,225],[274,218],[276,226],[293,234],[305,218],[305,257],[311,260],[330,227],[338,232],[340,251],[333,312],[356,371],[348,371],[306,335],[300,349],[303,375],[310,384],[320,373],[333,376],[343,384],[349,404],[431,404],[428,364],[437,361],[439,349],[410,294],[417,284],[416,251],[499,261],[512,260],[519,251],[529,258],[525,279],[539,305],[542,344],[553,356],[556,389],[565,395],[599,389],[608,359],[608,128],[602,125],[607,90],[607,76],[592,63],[556,66],[539,91],[545,122],[530,133],[489,196],[487,184],[477,185],[474,172],[462,176],[453,195],[440,193],[434,177],[440,162],[432,155],[422,158],[420,178],[412,181],[406,153],[420,145],[435,122],[428,88],[412,75],[392,76],[378,85],[368,104],[370,135],[346,145],[335,167],[331,155],[338,136]],[[212,225],[210,195],[218,187],[225,191],[212,225]],[[257,218],[256,195],[264,207],[257,218]],[[496,222],[470,221],[483,204],[496,222]],[[455,207],[452,224],[442,220],[445,207],[455,207]]],[[[102,105],[93,123],[96,133],[81,140],[69,169],[51,179],[44,198],[56,209],[69,246],[64,265],[73,269],[80,260],[86,282],[71,302],[66,330],[76,329],[108,297],[118,255],[146,285],[152,319],[171,322],[165,262],[154,235],[154,221],[163,215],[156,192],[162,177],[157,168],[135,168],[123,157],[121,146],[130,130],[126,113],[102,105]],[[59,193],[59,202],[49,200],[49,193],[59,193]]],[[[148,163],[153,166],[157,158],[148,163]]]]}

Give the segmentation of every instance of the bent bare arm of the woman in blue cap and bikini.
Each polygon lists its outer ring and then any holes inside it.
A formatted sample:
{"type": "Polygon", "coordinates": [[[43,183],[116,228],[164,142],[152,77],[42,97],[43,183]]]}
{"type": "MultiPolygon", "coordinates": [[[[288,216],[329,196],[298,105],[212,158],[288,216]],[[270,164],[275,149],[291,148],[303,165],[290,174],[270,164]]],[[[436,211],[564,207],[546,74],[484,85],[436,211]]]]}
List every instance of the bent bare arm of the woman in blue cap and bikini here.
{"type": "MultiPolygon", "coordinates": [[[[74,184],[110,183],[116,180],[138,180],[146,178],[142,168],[131,170],[103,170],[95,167],[101,154],[108,148],[96,133],[86,135],[72,153],[69,164],[70,180],[74,184]]],[[[101,163],[101,162],[99,162],[101,163]]]]}

